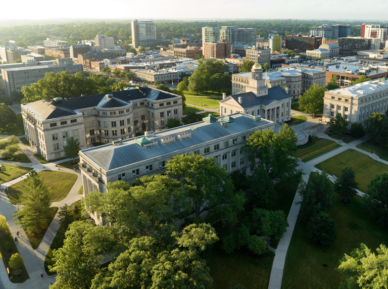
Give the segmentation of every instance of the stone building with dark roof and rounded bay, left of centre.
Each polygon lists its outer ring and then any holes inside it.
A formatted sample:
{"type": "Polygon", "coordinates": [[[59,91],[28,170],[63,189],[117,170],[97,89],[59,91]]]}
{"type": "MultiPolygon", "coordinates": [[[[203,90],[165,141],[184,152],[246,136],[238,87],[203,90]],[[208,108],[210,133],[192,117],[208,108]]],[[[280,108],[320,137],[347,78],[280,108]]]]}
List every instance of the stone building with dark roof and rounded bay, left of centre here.
{"type": "Polygon", "coordinates": [[[182,97],[146,86],[109,94],[22,104],[26,139],[46,160],[64,157],[66,138],[81,149],[93,142],[111,143],[135,133],[159,131],[182,117],[182,97]]]}

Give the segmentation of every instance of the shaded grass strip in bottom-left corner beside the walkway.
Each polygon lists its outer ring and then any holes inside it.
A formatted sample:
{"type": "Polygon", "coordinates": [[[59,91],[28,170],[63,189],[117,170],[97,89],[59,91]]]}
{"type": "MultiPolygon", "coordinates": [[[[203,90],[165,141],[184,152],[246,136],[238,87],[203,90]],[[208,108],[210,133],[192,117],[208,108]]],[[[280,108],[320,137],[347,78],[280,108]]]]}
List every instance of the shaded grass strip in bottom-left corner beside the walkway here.
{"type": "MultiPolygon", "coordinates": [[[[13,283],[23,283],[29,276],[24,264],[20,269],[12,269],[8,262],[11,259],[12,254],[19,253],[18,248],[15,244],[14,236],[11,234],[10,229],[0,230],[0,259],[4,262],[6,268],[10,269],[10,280],[13,283]]],[[[0,261],[0,262],[2,262],[0,261]]],[[[3,277],[4,278],[4,277],[3,277]]]]}

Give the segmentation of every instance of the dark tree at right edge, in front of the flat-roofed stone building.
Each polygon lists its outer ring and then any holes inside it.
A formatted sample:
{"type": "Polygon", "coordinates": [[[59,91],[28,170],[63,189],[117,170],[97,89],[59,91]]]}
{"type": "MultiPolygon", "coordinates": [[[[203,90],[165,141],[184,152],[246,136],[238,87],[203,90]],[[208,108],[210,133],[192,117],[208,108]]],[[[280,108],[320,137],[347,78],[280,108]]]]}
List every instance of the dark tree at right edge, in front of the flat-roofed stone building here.
{"type": "Polygon", "coordinates": [[[386,142],[388,134],[388,119],[382,113],[372,113],[372,115],[364,121],[365,134],[373,143],[383,145],[386,142]]]}

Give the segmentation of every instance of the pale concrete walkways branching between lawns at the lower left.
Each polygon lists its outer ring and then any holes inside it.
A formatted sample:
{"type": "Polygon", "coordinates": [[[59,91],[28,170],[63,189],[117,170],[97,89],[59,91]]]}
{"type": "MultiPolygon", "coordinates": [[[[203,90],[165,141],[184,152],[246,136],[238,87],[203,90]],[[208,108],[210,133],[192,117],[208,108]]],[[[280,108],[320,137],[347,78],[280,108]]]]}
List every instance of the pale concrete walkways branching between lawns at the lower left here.
{"type": "MultiPolygon", "coordinates": [[[[7,137],[7,136],[6,136],[7,137]]],[[[82,195],[78,194],[78,190],[82,186],[82,178],[80,171],[74,172],[74,170],[67,169],[67,168],[59,168],[56,167],[57,164],[67,162],[70,159],[65,159],[49,164],[41,164],[36,157],[34,156],[33,152],[29,149],[29,147],[26,147],[23,145],[23,143],[19,142],[19,147],[21,148],[21,151],[19,153],[26,154],[27,157],[32,161],[31,163],[18,163],[18,162],[10,162],[10,161],[0,161],[2,164],[11,164],[11,165],[17,165],[21,167],[32,167],[35,171],[41,172],[43,170],[60,170],[62,172],[68,172],[77,174],[78,178],[75,181],[73,187],[70,189],[69,194],[66,196],[65,199],[54,202],[52,204],[53,207],[61,208],[65,204],[68,204],[69,206],[73,204],[74,202],[80,200],[82,198],[82,195]]],[[[0,276],[3,281],[3,285],[5,289],[41,289],[41,288],[48,288],[50,285],[50,282],[55,282],[55,277],[48,277],[45,275],[44,271],[44,258],[46,257],[47,251],[50,249],[50,245],[53,242],[53,239],[55,237],[56,232],[59,229],[59,210],[57,214],[55,215],[53,221],[51,222],[49,228],[45,232],[39,246],[37,249],[33,250],[30,243],[28,242],[28,239],[26,237],[26,234],[23,230],[23,228],[16,224],[17,219],[13,220],[12,215],[18,210],[17,205],[12,205],[5,193],[5,190],[8,186],[15,184],[27,177],[28,174],[25,174],[17,179],[14,179],[10,182],[2,183],[1,185],[4,188],[4,191],[0,192],[0,214],[4,215],[6,217],[6,220],[8,222],[11,234],[13,236],[16,235],[16,231],[19,231],[21,233],[21,236],[19,237],[19,244],[17,244],[17,248],[19,250],[19,254],[23,257],[24,266],[26,267],[26,270],[29,275],[29,279],[25,281],[24,283],[12,283],[8,277],[7,277],[7,270],[4,265],[4,262],[0,262],[0,276]],[[43,272],[44,277],[40,278],[40,273],[43,272]]]]}

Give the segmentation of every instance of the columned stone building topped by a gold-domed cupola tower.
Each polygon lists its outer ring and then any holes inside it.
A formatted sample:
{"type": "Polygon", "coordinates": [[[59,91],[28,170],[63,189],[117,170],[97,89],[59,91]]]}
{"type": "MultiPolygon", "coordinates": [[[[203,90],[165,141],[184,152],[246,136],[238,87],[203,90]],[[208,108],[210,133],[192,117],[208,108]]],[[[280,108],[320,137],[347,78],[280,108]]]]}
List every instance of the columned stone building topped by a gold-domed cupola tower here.
{"type": "Polygon", "coordinates": [[[230,97],[224,95],[220,101],[221,116],[241,112],[275,123],[290,120],[292,96],[280,86],[268,87],[260,64],[252,67],[251,77],[247,80],[245,92],[230,97]]]}

